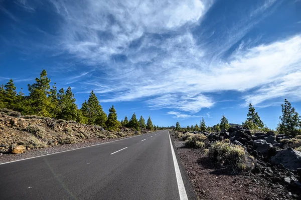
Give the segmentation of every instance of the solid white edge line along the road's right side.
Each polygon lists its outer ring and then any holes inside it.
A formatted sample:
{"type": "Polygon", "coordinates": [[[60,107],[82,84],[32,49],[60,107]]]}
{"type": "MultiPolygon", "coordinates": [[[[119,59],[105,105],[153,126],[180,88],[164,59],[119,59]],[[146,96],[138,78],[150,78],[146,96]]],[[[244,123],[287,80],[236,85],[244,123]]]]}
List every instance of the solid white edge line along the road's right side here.
{"type": "Polygon", "coordinates": [[[172,148],[172,154],[173,154],[173,159],[174,159],[174,165],[175,165],[175,171],[176,171],[176,177],[177,177],[180,200],[188,200],[187,193],[186,193],[186,190],[185,190],[185,186],[184,186],[184,183],[183,183],[183,179],[182,179],[182,176],[181,176],[181,171],[180,171],[180,168],[179,168],[179,165],[178,165],[177,157],[176,157],[176,154],[175,154],[175,151],[174,151],[174,148],[173,148],[173,143],[172,143],[172,139],[171,139],[171,136],[169,134],[169,131],[168,131],[168,136],[170,138],[170,143],[171,143],[171,148],[172,148]]]}

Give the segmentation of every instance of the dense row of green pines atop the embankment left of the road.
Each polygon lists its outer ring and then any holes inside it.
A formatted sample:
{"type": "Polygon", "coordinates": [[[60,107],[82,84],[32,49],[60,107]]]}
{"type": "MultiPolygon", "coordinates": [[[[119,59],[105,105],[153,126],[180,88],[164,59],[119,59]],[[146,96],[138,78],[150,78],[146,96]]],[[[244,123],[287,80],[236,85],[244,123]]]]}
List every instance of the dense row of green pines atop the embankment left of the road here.
{"type": "Polygon", "coordinates": [[[135,113],[128,121],[127,117],[124,120],[117,120],[117,113],[112,106],[107,115],[93,90],[91,91],[88,100],[82,104],[79,109],[75,103],[76,99],[68,87],[58,91],[56,83],[50,86],[51,80],[47,77],[47,71],[43,70],[40,78],[36,78],[36,82],[32,85],[28,84],[29,95],[23,93],[23,88],[19,93],[16,91],[16,86],[13,80],[7,84],[0,86],[0,108],[8,108],[14,111],[21,112],[22,115],[38,115],[55,119],[73,120],[79,123],[100,125],[107,130],[117,130],[119,126],[125,126],[140,130],[147,128],[150,130],[159,129],[159,126],[153,125],[152,120],[148,116],[145,123],[141,116],[137,120],[135,113]]]}

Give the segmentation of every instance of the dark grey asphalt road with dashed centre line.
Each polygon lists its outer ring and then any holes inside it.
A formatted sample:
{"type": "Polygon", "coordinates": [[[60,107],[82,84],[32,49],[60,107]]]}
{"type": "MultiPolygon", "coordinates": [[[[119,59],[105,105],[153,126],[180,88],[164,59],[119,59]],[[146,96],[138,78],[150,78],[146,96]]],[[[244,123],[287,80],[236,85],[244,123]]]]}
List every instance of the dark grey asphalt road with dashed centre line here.
{"type": "Polygon", "coordinates": [[[174,159],[166,130],[1,164],[0,199],[192,199],[174,159]]]}

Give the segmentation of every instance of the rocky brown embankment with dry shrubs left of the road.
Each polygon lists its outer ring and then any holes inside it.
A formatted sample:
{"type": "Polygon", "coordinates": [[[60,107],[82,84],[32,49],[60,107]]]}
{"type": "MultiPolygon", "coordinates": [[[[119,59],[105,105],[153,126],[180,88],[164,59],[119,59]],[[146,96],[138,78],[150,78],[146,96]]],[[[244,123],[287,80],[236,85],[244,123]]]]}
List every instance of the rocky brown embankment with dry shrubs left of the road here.
{"type": "Polygon", "coordinates": [[[0,154],[19,154],[29,149],[74,144],[91,138],[109,140],[147,132],[151,131],[136,131],[126,127],[107,131],[101,126],[48,117],[21,116],[19,112],[3,110],[0,112],[0,154]]]}

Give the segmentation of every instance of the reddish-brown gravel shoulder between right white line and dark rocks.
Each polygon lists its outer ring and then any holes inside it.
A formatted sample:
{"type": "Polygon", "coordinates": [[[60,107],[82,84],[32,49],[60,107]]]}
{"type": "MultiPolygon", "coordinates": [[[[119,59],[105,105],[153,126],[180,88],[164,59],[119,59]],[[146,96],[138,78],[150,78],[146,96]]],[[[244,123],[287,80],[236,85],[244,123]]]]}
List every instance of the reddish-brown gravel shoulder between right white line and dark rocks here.
{"type": "Polygon", "coordinates": [[[232,174],[207,159],[203,149],[185,148],[184,141],[172,133],[171,138],[197,199],[293,199],[286,188],[267,181],[261,174],[232,174]]]}

